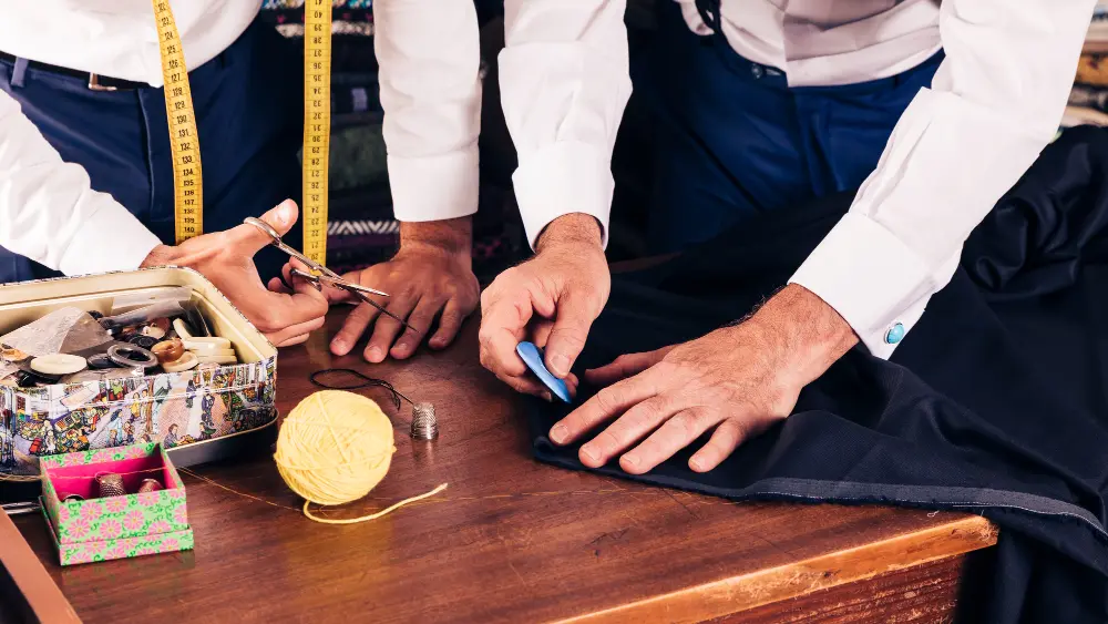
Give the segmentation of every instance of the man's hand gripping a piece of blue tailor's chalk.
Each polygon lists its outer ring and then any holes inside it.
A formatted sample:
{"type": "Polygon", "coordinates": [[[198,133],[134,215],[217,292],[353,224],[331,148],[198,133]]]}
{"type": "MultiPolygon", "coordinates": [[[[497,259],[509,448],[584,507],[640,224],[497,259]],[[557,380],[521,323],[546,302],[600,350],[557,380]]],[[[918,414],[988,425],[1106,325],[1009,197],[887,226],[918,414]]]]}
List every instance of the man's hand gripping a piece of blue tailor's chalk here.
{"type": "Polygon", "coordinates": [[[512,388],[550,400],[550,391],[527,376],[515,347],[524,339],[544,347],[546,368],[575,392],[570,368],[608,299],[612,276],[599,224],[589,215],[553,221],[535,250],[534,258],[502,273],[481,295],[481,364],[512,388]]]}

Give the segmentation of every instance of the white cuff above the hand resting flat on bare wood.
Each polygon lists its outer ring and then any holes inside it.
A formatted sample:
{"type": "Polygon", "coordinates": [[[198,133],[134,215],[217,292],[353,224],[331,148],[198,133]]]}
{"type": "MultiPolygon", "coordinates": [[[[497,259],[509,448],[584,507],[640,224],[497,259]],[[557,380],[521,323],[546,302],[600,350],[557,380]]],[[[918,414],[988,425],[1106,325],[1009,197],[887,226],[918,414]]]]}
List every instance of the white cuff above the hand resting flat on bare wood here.
{"type": "Polygon", "coordinates": [[[389,155],[398,221],[440,221],[478,212],[478,147],[435,156],[389,155]]]}

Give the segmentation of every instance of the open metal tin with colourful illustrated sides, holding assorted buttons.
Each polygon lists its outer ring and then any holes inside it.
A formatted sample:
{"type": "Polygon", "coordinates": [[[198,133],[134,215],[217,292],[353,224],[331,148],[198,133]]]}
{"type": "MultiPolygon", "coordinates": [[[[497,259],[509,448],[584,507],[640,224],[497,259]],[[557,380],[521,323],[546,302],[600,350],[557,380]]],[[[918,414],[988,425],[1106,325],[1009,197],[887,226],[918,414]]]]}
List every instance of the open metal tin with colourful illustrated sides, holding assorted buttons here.
{"type": "Polygon", "coordinates": [[[177,466],[267,446],[277,349],[199,273],[177,267],[0,285],[0,334],[64,306],[106,314],[120,295],[185,286],[242,364],[38,388],[0,386],[0,474],[38,457],[161,442],[177,466]],[[202,451],[203,449],[203,451],[202,451]],[[193,451],[198,452],[193,452],[193,451]]]}

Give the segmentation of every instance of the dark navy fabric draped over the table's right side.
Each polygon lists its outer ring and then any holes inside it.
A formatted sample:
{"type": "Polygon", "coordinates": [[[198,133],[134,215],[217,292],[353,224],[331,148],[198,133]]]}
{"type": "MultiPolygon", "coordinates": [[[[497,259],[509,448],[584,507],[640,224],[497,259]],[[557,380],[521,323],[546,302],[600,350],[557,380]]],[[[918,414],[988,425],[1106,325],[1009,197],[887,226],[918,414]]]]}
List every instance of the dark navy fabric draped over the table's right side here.
{"type": "MultiPolygon", "coordinates": [[[[1064,133],[974,232],[891,361],[854,349],[804,389],[791,417],[716,470],[691,472],[685,452],[643,477],[615,463],[601,471],[736,500],[982,513],[1001,538],[982,555],[991,574],[960,603],[963,620],[1108,621],[1106,174],[1108,131],[1064,133]]],[[[850,201],[798,207],[617,276],[578,368],[741,317],[787,282],[850,201]]],[[[582,470],[576,448],[546,438],[566,412],[533,403],[534,452],[582,470]]]]}

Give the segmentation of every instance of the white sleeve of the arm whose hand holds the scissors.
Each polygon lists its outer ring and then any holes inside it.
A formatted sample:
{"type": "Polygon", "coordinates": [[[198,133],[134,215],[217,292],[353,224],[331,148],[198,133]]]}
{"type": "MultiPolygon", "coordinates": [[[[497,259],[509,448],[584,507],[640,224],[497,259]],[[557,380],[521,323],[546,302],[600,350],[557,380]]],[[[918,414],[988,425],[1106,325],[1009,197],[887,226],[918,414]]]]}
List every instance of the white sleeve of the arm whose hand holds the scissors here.
{"type": "Polygon", "coordinates": [[[66,275],[138,268],[160,241],[62,161],[0,91],[0,245],[66,275]]]}

